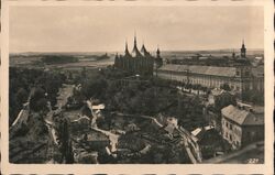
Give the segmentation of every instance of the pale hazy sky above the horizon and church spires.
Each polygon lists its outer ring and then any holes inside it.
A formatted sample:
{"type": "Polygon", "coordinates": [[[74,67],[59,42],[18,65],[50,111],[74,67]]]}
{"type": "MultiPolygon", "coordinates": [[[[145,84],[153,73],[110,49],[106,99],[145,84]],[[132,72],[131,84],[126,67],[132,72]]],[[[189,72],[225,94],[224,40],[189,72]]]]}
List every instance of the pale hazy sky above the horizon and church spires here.
{"type": "Polygon", "coordinates": [[[10,52],[264,47],[261,7],[11,7],[10,52]]]}

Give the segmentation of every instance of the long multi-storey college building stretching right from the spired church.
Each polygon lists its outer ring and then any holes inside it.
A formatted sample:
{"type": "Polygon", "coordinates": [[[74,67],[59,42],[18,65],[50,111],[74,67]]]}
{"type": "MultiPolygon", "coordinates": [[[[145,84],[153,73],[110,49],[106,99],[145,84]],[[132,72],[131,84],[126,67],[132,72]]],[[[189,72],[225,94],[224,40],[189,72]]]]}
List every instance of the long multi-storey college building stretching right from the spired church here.
{"type": "MultiPolygon", "coordinates": [[[[241,56],[245,58],[244,44],[241,56]]],[[[155,76],[183,81],[185,84],[199,84],[208,88],[219,88],[228,84],[234,91],[243,90],[264,91],[264,67],[235,66],[202,66],[202,65],[175,65],[166,64],[155,70],[155,76]]]]}

